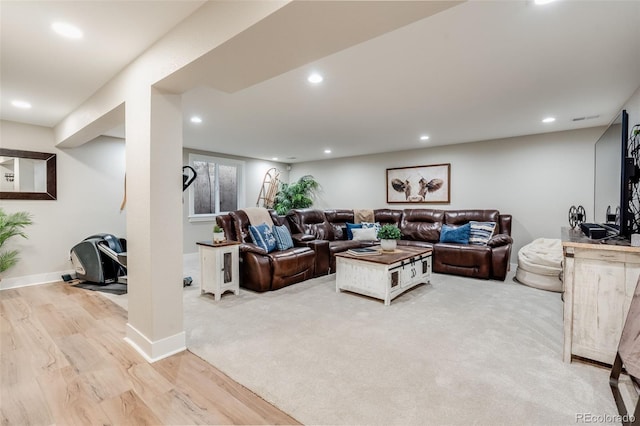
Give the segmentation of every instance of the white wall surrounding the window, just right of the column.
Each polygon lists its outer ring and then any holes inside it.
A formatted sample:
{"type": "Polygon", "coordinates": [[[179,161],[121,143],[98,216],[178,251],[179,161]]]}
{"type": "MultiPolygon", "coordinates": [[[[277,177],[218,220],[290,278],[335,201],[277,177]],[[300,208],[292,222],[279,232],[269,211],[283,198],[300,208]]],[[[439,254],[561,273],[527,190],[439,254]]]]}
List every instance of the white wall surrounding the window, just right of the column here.
{"type": "MultiPolygon", "coordinates": [[[[255,160],[246,157],[234,157],[226,154],[218,154],[215,152],[199,151],[193,149],[183,150],[183,164],[189,164],[189,154],[202,154],[218,158],[233,158],[245,162],[245,199],[239,200],[242,207],[255,207],[262,181],[265,173],[272,167],[280,170],[280,178],[283,182],[288,182],[289,172],[287,165],[271,161],[255,160]]],[[[184,253],[195,253],[198,251],[196,242],[210,240],[213,238],[213,225],[215,221],[191,222],[189,221],[189,190],[183,193],[183,229],[184,229],[184,253]]]]}

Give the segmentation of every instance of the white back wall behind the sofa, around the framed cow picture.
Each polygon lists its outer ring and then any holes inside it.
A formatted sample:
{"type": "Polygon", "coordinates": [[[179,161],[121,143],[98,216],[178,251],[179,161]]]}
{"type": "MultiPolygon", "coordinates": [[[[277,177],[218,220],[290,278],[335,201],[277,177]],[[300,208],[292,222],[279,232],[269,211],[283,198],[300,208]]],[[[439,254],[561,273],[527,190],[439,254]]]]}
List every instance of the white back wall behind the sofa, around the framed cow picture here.
{"type": "Polygon", "coordinates": [[[294,164],[313,175],[318,208],[498,209],[513,215],[514,249],[559,238],[571,205],[593,214],[593,153],[603,127],[294,164]],[[451,163],[450,204],[387,204],[386,169],[451,163]]]}

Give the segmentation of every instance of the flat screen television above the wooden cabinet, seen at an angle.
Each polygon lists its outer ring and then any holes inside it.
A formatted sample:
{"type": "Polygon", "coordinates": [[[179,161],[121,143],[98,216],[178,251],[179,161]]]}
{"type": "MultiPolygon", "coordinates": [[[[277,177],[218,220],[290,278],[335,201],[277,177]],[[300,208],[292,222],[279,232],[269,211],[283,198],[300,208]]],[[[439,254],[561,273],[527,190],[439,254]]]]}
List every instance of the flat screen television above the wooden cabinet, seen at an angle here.
{"type": "Polygon", "coordinates": [[[623,110],[596,142],[594,175],[594,222],[625,239],[638,232],[640,220],[633,191],[640,176],[628,134],[629,115],[623,110]]]}

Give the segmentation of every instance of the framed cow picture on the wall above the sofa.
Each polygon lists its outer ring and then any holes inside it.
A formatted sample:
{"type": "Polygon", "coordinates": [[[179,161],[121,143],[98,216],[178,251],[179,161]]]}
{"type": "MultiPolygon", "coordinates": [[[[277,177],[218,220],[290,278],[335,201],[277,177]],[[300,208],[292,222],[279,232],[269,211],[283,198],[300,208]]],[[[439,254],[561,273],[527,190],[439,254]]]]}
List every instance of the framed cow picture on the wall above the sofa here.
{"type": "Polygon", "coordinates": [[[450,203],[451,164],[387,169],[387,203],[450,203]]]}

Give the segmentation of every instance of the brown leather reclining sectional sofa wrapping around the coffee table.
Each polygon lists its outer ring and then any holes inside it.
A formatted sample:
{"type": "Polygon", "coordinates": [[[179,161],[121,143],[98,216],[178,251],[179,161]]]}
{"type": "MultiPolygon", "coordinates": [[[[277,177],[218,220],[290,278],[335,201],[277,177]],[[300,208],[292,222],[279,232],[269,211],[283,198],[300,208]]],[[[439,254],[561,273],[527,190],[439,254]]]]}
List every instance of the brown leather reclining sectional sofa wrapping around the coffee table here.
{"type": "MultiPolygon", "coordinates": [[[[511,255],[511,215],[497,210],[377,209],[374,221],[397,225],[402,232],[398,245],[433,248],[433,271],[466,277],[506,278],[511,255]],[[493,237],[485,245],[440,243],[443,224],[469,221],[496,222],[493,237]]],[[[271,212],[276,224],[290,230],[295,247],[266,253],[251,242],[249,220],[241,211],[217,217],[227,238],[240,241],[240,285],[255,291],[276,290],[306,279],[335,272],[335,254],[375,242],[347,238],[346,224],[354,223],[348,209],[294,209],[286,217],[271,212]]]]}

